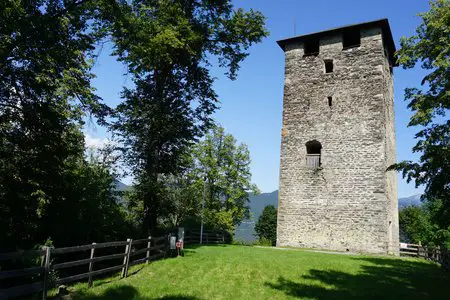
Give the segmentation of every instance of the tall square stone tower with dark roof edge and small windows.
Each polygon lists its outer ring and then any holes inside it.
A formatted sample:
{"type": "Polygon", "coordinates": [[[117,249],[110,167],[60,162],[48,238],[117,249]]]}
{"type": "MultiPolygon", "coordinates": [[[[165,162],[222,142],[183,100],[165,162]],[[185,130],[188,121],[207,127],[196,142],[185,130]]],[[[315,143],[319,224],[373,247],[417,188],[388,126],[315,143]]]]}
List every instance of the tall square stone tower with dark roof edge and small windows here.
{"type": "Polygon", "coordinates": [[[277,245],[398,255],[387,19],[278,41],[285,52],[277,245]]]}

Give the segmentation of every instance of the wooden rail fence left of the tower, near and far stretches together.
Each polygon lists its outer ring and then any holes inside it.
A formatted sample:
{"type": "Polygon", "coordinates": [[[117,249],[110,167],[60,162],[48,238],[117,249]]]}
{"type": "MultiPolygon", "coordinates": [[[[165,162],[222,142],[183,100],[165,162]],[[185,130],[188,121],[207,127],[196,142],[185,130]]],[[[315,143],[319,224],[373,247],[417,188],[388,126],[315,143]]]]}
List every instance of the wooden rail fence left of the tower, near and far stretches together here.
{"type": "MultiPolygon", "coordinates": [[[[42,293],[42,299],[47,298],[47,292],[54,286],[80,281],[87,278],[88,287],[92,286],[93,278],[106,273],[122,270],[121,276],[128,276],[128,268],[133,265],[148,263],[149,261],[166,256],[169,250],[169,236],[148,237],[146,239],[126,241],[92,243],[90,245],[51,248],[42,250],[18,251],[0,253],[0,262],[20,259],[38,259],[40,266],[25,269],[3,271],[0,268],[0,280],[11,278],[31,279],[32,283],[14,285],[0,289],[0,299],[10,299],[26,296],[34,293],[42,293]],[[102,250],[108,249],[105,253],[102,250]],[[83,252],[87,252],[84,253],[83,252]],[[69,259],[64,259],[64,258],[69,259]],[[74,260],[74,257],[76,258],[74,260]],[[84,258],[83,258],[84,257],[84,258]],[[61,261],[62,260],[62,261],[61,261]],[[114,264],[113,261],[120,261],[114,264]],[[99,263],[103,262],[98,268],[99,263]],[[105,263],[107,262],[107,263],[105,263]],[[106,265],[105,265],[106,264],[106,265]],[[87,272],[61,272],[68,268],[78,268],[87,265],[87,272]],[[95,268],[97,266],[97,268],[95,268]],[[70,276],[55,276],[56,272],[66,273],[70,276]]],[[[231,236],[226,231],[204,230],[203,244],[225,244],[231,241],[231,236]]],[[[199,244],[200,232],[186,230],[185,244],[199,244]]],[[[59,274],[60,275],[60,274],[59,274]]]]}

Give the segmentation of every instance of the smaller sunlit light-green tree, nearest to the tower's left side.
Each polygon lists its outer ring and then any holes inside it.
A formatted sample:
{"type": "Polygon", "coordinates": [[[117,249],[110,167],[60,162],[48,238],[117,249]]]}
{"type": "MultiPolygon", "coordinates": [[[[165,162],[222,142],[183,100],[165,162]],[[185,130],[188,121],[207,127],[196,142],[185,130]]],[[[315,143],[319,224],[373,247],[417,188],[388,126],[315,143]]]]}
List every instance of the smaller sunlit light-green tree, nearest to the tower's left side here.
{"type": "Polygon", "coordinates": [[[192,151],[197,195],[205,188],[205,220],[212,228],[234,231],[249,217],[251,193],[250,153],[245,144],[237,145],[231,134],[215,127],[192,151]],[[204,184],[206,185],[204,187],[204,184]]]}

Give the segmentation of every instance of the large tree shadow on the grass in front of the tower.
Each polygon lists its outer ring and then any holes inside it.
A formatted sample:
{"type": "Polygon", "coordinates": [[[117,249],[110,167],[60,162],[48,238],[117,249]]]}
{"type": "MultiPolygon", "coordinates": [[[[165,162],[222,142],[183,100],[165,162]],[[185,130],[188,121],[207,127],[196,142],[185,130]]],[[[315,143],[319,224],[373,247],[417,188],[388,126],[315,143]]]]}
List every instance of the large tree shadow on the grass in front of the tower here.
{"type": "Polygon", "coordinates": [[[450,291],[450,274],[425,261],[353,259],[362,263],[356,274],[313,269],[298,281],[279,277],[265,285],[289,296],[314,299],[440,299],[450,291]]]}

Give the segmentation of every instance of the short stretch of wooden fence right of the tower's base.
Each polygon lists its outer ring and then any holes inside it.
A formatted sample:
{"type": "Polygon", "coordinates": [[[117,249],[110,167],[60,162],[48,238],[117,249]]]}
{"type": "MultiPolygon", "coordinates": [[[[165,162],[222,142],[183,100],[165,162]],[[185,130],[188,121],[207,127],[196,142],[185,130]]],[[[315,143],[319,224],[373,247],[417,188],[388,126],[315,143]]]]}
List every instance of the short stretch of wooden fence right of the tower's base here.
{"type": "Polygon", "coordinates": [[[450,270],[450,251],[445,247],[427,247],[420,244],[400,243],[400,255],[421,257],[439,263],[450,270]]]}

